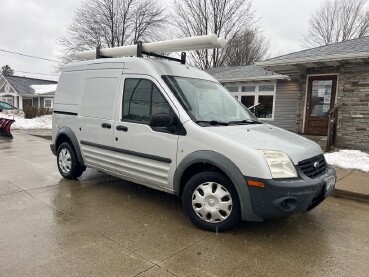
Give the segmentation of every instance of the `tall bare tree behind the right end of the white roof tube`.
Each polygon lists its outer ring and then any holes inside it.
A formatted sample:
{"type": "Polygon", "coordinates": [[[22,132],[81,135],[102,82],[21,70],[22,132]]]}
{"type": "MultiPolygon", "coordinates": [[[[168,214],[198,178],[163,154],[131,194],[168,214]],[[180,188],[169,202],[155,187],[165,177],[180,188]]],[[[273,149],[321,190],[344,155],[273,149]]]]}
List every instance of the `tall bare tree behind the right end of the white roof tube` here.
{"type": "MultiPolygon", "coordinates": [[[[252,0],[176,0],[174,7],[173,24],[181,37],[216,34],[231,41],[245,29],[258,31],[252,0]]],[[[227,60],[222,49],[193,51],[189,57],[202,69],[227,60]]]]}

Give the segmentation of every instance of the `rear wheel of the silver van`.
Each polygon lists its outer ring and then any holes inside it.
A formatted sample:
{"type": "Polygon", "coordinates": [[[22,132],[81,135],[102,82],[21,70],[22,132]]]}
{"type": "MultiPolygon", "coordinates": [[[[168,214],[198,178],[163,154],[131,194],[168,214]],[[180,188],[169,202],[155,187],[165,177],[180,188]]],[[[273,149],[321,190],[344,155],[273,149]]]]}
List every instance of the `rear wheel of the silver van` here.
{"type": "Polygon", "coordinates": [[[75,180],[85,170],[80,165],[73,147],[68,142],[60,144],[56,157],[59,172],[66,179],[75,180]]]}

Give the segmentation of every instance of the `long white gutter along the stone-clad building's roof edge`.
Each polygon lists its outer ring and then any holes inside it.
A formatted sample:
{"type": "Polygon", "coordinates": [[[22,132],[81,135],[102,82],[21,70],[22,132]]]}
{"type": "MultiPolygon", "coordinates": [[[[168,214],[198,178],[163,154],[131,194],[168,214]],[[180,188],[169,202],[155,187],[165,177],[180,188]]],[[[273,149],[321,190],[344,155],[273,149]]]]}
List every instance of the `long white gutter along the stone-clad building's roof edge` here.
{"type": "Polygon", "coordinates": [[[294,65],[314,62],[332,62],[332,61],[343,61],[352,59],[369,59],[369,52],[359,52],[350,54],[334,54],[334,55],[322,55],[306,58],[294,58],[294,59],[279,59],[277,61],[267,60],[256,62],[257,66],[269,67],[269,66],[282,66],[282,65],[294,65]]]}

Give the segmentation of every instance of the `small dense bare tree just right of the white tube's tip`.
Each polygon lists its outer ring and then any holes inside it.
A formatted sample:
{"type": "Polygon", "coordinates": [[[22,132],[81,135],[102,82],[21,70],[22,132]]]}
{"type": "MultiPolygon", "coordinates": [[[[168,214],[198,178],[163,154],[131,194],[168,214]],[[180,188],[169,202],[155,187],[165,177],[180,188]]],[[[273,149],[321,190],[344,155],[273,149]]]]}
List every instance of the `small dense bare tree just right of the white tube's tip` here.
{"type": "Polygon", "coordinates": [[[233,36],[225,49],[228,66],[249,65],[262,60],[269,49],[269,41],[255,30],[245,30],[233,36]]]}

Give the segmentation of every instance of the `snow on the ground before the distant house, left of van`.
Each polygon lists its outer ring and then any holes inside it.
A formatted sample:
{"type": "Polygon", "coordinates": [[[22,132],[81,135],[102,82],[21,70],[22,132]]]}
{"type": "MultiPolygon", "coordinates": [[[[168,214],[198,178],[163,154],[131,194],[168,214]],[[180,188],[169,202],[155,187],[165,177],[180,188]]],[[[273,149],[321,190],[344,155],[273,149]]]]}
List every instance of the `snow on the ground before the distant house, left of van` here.
{"type": "Polygon", "coordinates": [[[21,111],[3,111],[0,112],[0,118],[14,119],[11,130],[17,129],[51,129],[52,115],[43,115],[40,117],[26,119],[21,111]]]}

